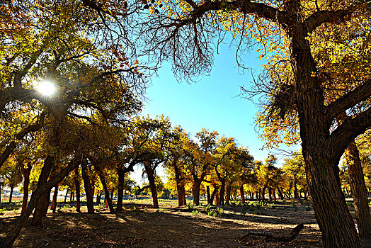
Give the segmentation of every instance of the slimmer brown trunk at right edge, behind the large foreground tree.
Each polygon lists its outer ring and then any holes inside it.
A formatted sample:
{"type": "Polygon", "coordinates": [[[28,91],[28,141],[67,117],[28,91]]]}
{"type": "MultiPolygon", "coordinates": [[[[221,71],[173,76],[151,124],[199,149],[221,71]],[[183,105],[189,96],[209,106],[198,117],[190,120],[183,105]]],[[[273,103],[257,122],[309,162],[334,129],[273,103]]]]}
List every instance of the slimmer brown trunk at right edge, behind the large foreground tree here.
{"type": "Polygon", "coordinates": [[[361,239],[371,239],[371,215],[368,206],[367,189],[358,147],[353,141],[348,146],[347,165],[350,177],[350,188],[353,192],[355,220],[361,239]]]}

